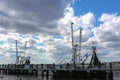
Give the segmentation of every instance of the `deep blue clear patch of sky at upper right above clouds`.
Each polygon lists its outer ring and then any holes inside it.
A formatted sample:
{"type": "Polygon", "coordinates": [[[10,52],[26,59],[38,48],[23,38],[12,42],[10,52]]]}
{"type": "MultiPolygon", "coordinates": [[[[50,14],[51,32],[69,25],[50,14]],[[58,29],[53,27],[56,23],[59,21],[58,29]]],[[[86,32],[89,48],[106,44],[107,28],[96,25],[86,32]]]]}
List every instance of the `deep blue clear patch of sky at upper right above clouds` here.
{"type": "Polygon", "coordinates": [[[89,11],[100,17],[102,13],[118,13],[120,14],[119,0],[75,0],[72,7],[75,16],[85,14],[89,11]]]}

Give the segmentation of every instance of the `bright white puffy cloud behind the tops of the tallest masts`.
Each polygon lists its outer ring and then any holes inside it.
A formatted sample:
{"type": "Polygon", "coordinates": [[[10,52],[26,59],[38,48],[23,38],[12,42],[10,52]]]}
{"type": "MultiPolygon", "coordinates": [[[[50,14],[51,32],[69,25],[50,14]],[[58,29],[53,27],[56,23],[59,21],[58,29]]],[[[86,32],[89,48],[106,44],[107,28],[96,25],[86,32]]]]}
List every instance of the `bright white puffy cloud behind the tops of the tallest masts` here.
{"type": "Polygon", "coordinates": [[[82,35],[83,41],[87,41],[90,36],[90,28],[94,27],[95,16],[93,13],[88,12],[84,15],[75,16],[74,10],[72,7],[68,7],[65,10],[64,17],[61,18],[58,22],[59,30],[61,30],[61,34],[64,35],[68,41],[70,40],[71,35],[71,22],[74,23],[74,36],[79,37],[80,28],[83,29],[82,35]],[[68,36],[69,35],[69,36],[68,36]]]}

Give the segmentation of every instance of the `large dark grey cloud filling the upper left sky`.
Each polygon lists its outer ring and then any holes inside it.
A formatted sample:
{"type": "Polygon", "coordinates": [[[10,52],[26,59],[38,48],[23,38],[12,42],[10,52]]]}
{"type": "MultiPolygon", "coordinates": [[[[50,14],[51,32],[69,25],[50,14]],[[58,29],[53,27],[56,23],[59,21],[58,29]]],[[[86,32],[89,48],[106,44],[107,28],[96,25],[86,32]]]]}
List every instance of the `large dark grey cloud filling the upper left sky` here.
{"type": "Polygon", "coordinates": [[[58,34],[57,21],[63,16],[68,2],[65,0],[1,0],[0,4],[2,4],[0,27],[18,33],[40,32],[55,35],[58,34]]]}

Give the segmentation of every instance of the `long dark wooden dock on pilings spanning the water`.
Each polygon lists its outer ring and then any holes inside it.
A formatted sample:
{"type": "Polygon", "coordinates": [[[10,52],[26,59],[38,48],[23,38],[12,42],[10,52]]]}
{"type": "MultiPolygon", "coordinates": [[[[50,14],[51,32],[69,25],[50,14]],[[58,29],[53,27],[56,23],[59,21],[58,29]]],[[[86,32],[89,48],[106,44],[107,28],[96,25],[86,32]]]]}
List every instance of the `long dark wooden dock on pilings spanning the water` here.
{"type": "Polygon", "coordinates": [[[34,76],[52,76],[58,77],[96,77],[106,78],[110,80],[113,78],[112,71],[120,70],[120,68],[101,67],[101,68],[87,68],[86,65],[76,66],[73,68],[72,65],[63,64],[30,64],[29,68],[25,68],[24,65],[16,64],[2,64],[0,65],[0,74],[7,75],[34,75],[34,76]],[[64,65],[64,66],[63,66],[64,65]]]}

